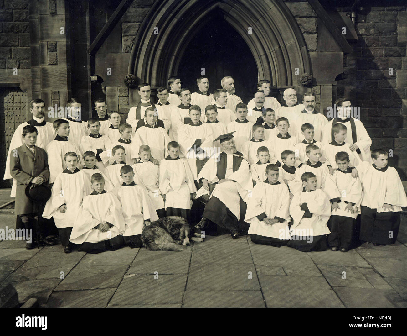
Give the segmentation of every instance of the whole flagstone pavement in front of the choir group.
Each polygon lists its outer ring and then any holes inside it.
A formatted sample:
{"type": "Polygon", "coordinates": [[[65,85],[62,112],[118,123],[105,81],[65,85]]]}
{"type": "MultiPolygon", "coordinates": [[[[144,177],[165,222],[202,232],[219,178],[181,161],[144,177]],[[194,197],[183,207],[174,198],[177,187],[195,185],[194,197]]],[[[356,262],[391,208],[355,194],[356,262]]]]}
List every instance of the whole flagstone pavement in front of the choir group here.
{"type": "MultiPolygon", "coordinates": [[[[0,228],[15,215],[0,210],[0,228]]],[[[207,236],[184,252],[97,255],[0,242],[0,283],[41,307],[407,307],[407,217],[392,246],[303,253],[207,236]]]]}

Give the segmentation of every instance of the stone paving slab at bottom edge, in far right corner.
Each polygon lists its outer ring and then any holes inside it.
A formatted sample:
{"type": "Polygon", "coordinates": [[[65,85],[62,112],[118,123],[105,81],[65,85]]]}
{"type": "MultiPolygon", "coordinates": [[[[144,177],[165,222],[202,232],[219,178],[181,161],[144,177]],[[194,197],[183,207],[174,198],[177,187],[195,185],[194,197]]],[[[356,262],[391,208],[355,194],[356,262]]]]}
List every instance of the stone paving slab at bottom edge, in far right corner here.
{"type": "Polygon", "coordinates": [[[393,308],[394,290],[333,287],[348,308],[393,308]]]}

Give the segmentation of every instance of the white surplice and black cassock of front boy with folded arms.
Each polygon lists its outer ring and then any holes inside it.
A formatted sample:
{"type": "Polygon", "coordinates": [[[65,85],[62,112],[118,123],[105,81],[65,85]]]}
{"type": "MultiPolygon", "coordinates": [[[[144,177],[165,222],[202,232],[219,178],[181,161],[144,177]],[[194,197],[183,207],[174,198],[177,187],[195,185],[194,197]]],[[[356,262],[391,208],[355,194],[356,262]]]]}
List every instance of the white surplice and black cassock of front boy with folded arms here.
{"type": "Polygon", "coordinates": [[[290,204],[293,225],[287,246],[302,252],[326,250],[325,235],[330,233],[326,223],[330,213],[330,202],[321,189],[306,192],[304,188],[295,193],[290,204]],[[304,236],[308,236],[308,242],[304,236]]]}

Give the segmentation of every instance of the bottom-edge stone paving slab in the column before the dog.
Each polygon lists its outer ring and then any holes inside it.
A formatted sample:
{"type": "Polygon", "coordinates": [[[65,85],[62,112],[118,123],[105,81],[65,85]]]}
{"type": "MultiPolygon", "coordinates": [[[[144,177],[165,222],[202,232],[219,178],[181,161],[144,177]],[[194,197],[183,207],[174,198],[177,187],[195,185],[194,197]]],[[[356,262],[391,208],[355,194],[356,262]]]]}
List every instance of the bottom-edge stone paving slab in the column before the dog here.
{"type": "Polygon", "coordinates": [[[123,279],[111,305],[181,304],[187,275],[134,275],[123,279]]]}

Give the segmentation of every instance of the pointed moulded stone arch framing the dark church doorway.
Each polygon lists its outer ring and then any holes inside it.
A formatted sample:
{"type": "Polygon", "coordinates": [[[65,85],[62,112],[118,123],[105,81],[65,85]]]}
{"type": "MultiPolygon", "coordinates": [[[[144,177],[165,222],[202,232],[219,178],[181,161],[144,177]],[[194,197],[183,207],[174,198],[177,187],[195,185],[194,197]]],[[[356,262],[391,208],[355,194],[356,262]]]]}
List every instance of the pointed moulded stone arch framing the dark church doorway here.
{"type": "Polygon", "coordinates": [[[271,79],[274,87],[283,88],[300,85],[295,68],[300,74],[312,73],[304,37],[282,0],[156,1],[134,40],[128,73],[152,87],[166,83],[177,72],[194,32],[215,10],[223,13],[249,46],[260,78],[271,79]]]}

